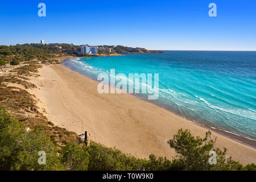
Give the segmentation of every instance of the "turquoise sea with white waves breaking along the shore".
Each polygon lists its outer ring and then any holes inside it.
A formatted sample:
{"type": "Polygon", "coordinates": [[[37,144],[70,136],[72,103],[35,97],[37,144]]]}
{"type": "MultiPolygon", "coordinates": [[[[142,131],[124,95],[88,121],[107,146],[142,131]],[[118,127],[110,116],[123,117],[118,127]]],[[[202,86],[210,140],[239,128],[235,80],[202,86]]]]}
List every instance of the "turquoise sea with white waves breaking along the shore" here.
{"type": "Polygon", "coordinates": [[[165,51],[73,58],[64,65],[94,80],[113,68],[127,77],[159,73],[159,97],[151,102],[213,129],[256,140],[255,51],[165,51]]]}

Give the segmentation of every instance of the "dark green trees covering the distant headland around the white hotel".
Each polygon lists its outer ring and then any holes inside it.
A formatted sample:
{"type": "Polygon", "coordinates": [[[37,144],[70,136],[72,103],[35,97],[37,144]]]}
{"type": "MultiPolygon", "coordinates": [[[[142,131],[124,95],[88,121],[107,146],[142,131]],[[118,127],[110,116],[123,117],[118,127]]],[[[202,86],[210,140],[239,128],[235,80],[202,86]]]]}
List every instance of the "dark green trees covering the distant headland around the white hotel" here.
{"type": "MultiPolygon", "coordinates": [[[[63,56],[106,56],[108,52],[100,51],[100,55],[79,55],[78,48],[71,44],[16,44],[16,46],[0,46],[0,66],[5,64],[18,65],[29,60],[50,60],[63,56]]],[[[106,46],[112,48],[111,54],[122,53],[161,53],[162,51],[149,51],[145,48],[131,48],[125,46],[106,46]]]]}

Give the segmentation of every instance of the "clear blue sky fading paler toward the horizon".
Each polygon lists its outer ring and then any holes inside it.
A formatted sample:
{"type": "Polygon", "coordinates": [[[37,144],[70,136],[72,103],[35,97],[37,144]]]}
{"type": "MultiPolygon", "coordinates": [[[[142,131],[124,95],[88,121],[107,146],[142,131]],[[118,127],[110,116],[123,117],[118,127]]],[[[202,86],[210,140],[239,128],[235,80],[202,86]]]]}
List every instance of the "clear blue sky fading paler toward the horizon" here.
{"type": "Polygon", "coordinates": [[[75,43],[161,50],[256,51],[255,0],[7,1],[0,44],[75,43]],[[46,4],[46,17],[38,4],[46,4]],[[209,3],[217,17],[208,15],[209,3]]]}

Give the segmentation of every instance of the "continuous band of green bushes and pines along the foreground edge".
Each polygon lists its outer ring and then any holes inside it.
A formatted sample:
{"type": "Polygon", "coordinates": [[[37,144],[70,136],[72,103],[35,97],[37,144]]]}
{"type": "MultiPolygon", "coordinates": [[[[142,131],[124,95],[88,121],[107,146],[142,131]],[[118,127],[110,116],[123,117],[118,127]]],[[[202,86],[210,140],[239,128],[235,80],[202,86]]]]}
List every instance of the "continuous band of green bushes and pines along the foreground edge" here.
{"type": "Polygon", "coordinates": [[[172,160],[150,155],[138,159],[96,142],[89,146],[71,140],[60,146],[44,133],[44,127],[26,130],[0,106],[0,169],[1,170],[255,170],[254,164],[242,166],[226,151],[214,149],[215,140],[210,132],[205,138],[193,137],[188,130],[180,129],[168,143],[179,157],[172,160]],[[217,164],[208,163],[210,150],[217,152],[217,164]],[[46,152],[46,164],[39,164],[39,152],[46,152]]]}

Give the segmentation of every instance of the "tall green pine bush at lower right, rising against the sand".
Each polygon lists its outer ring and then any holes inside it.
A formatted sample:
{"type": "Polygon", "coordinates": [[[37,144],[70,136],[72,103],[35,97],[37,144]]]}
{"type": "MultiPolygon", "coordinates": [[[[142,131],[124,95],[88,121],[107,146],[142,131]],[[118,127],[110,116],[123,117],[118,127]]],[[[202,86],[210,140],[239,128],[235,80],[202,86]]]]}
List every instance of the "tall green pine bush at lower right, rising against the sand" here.
{"type": "Polygon", "coordinates": [[[214,148],[216,138],[210,138],[208,131],[205,138],[193,137],[189,130],[180,129],[174,139],[168,143],[174,148],[178,155],[179,166],[183,170],[241,170],[242,165],[226,158],[226,148],[221,151],[214,148]],[[209,164],[209,152],[216,152],[217,164],[209,164]]]}

